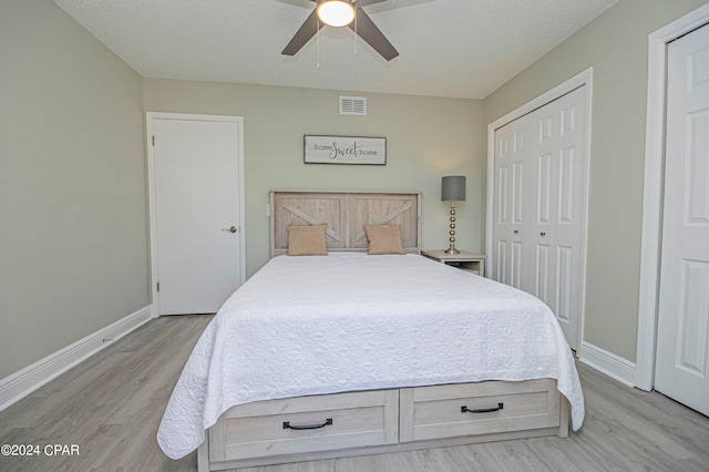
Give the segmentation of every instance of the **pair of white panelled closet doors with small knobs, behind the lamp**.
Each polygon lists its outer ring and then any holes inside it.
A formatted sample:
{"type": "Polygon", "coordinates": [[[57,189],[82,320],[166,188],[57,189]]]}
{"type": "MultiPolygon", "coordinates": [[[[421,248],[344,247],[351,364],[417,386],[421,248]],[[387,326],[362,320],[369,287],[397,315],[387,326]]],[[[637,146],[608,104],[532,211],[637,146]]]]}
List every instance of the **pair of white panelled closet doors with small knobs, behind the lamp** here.
{"type": "Polygon", "coordinates": [[[493,278],[548,305],[572,349],[583,309],[585,93],[495,132],[493,278]]]}

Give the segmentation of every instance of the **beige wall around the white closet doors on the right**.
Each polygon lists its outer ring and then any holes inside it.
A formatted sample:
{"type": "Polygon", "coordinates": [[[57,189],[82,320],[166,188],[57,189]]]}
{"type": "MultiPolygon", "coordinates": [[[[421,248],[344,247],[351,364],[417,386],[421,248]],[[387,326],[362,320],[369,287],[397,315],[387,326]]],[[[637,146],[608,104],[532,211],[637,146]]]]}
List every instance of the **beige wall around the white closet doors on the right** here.
{"type": "Polygon", "coordinates": [[[594,68],[584,340],[630,361],[637,342],[648,34],[702,0],[620,0],[489,95],[485,124],[594,68]]]}

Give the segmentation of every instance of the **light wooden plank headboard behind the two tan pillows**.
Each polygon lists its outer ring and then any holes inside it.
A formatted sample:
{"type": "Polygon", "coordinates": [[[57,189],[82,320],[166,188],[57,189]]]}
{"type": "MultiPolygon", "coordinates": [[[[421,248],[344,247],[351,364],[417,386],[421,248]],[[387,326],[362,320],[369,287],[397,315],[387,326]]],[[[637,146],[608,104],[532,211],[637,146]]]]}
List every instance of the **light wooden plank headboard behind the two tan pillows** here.
{"type": "Polygon", "coordinates": [[[364,225],[401,225],[404,250],[421,250],[421,193],[271,191],[270,208],[270,257],[287,253],[289,225],[322,223],[330,252],[366,252],[364,225]]]}

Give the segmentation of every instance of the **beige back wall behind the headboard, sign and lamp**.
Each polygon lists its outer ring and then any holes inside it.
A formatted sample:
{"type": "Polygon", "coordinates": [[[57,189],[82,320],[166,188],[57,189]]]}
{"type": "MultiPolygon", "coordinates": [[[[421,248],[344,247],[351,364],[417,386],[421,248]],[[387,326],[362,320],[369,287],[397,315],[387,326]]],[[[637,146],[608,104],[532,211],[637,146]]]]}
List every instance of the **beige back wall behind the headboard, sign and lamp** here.
{"type": "Polygon", "coordinates": [[[483,249],[482,102],[368,93],[358,94],[368,99],[368,115],[348,116],[339,114],[339,95],[309,89],[144,80],[145,111],[244,116],[248,275],[268,260],[266,205],[273,188],[420,191],[422,245],[438,249],[448,247],[441,177],[466,175],[467,199],[459,205],[456,246],[483,249]],[[383,136],[387,165],[306,165],[305,134],[383,136]]]}

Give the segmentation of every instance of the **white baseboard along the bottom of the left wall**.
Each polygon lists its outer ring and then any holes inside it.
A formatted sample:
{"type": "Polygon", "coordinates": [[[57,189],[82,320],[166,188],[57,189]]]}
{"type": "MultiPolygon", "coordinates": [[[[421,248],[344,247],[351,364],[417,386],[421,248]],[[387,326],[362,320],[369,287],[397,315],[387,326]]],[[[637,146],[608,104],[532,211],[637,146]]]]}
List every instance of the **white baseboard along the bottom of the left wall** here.
{"type": "Polygon", "coordinates": [[[0,411],[152,319],[151,306],[0,379],[0,411]]]}

